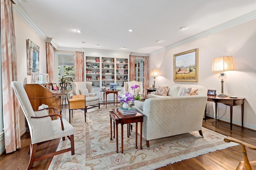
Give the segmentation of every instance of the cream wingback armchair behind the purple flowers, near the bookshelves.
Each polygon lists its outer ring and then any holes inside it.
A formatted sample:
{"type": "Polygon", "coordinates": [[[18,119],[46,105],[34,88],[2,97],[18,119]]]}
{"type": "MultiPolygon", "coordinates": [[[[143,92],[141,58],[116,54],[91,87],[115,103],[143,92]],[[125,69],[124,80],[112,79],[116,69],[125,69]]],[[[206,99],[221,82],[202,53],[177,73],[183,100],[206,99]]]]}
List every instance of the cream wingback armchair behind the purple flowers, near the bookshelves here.
{"type": "Polygon", "coordinates": [[[140,94],[140,99],[144,99],[142,82],[138,82],[135,80],[130,81],[130,82],[124,82],[124,93],[130,92],[130,93],[134,94],[134,90],[132,90],[132,88],[131,88],[131,86],[134,86],[134,85],[139,85],[139,87],[135,89],[135,95],[137,96],[138,94],[140,94]]]}

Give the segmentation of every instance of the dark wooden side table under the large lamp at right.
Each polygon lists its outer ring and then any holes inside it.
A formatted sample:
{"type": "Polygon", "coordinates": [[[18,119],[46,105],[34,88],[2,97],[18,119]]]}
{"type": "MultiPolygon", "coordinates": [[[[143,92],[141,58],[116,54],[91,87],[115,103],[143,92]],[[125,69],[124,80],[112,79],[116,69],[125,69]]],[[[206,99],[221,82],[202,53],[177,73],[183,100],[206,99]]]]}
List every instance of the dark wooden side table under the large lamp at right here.
{"type": "MultiPolygon", "coordinates": [[[[227,106],[230,106],[230,130],[232,131],[232,117],[233,117],[233,106],[241,105],[241,112],[242,112],[242,127],[244,127],[244,99],[245,98],[230,98],[230,97],[218,97],[218,96],[207,96],[207,101],[214,102],[215,103],[215,119],[217,119],[217,107],[218,103],[225,104],[227,106]]],[[[204,113],[206,121],[206,111],[204,113]]]]}

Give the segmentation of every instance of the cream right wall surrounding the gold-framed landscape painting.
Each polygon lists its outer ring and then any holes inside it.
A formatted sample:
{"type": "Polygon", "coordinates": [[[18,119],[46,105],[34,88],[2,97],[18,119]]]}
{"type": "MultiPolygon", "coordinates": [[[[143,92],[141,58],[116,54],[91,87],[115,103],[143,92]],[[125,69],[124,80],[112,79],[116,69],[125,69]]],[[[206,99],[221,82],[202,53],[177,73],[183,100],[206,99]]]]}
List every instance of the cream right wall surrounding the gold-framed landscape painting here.
{"type": "MultiPolygon", "coordinates": [[[[208,35],[195,41],[168,49],[162,53],[149,57],[150,69],[159,68],[161,76],[156,77],[156,87],[161,84],[199,84],[208,89],[221,93],[221,82],[218,79],[219,72],[212,72],[212,59],[222,56],[233,56],[235,71],[227,71],[224,80],[224,94],[246,98],[244,104],[244,127],[256,130],[256,20],[242,23],[235,27],[208,35]],[[199,49],[198,82],[174,82],[173,81],[173,55],[199,49]]],[[[185,30],[184,30],[185,31],[185,30]]],[[[150,84],[153,84],[150,77],[150,84]]],[[[212,106],[212,102],[208,102],[212,106]]],[[[224,114],[226,106],[218,104],[218,116],[224,114]]],[[[213,117],[212,107],[207,107],[207,112],[213,117]]],[[[230,108],[222,117],[224,121],[230,121],[230,108]]],[[[241,125],[241,106],[233,107],[233,123],[241,125]]]]}

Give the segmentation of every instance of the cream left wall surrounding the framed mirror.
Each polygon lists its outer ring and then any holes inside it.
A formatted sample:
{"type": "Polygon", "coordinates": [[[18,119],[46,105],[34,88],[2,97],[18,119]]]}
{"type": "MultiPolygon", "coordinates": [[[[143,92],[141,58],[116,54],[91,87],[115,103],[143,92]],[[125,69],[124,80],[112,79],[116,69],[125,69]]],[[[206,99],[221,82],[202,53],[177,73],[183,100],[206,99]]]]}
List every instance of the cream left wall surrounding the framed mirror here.
{"type": "MultiPolygon", "coordinates": [[[[30,75],[27,74],[27,47],[26,39],[30,39],[39,48],[39,73],[46,73],[46,43],[41,39],[17,14],[14,15],[16,35],[16,55],[18,64],[18,82],[23,84],[24,78],[30,83],[30,75]]],[[[20,108],[20,134],[26,132],[25,117],[20,108]]]]}

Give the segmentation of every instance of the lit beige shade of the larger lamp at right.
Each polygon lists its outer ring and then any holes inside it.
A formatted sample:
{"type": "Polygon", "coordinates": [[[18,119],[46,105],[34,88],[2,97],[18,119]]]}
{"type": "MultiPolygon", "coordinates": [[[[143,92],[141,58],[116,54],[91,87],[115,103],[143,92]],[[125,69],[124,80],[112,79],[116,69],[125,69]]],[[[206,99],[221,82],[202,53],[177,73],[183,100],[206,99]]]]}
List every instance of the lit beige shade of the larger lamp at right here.
{"type": "Polygon", "coordinates": [[[232,56],[217,57],[212,61],[212,71],[228,71],[235,70],[234,60],[232,56]]]}

